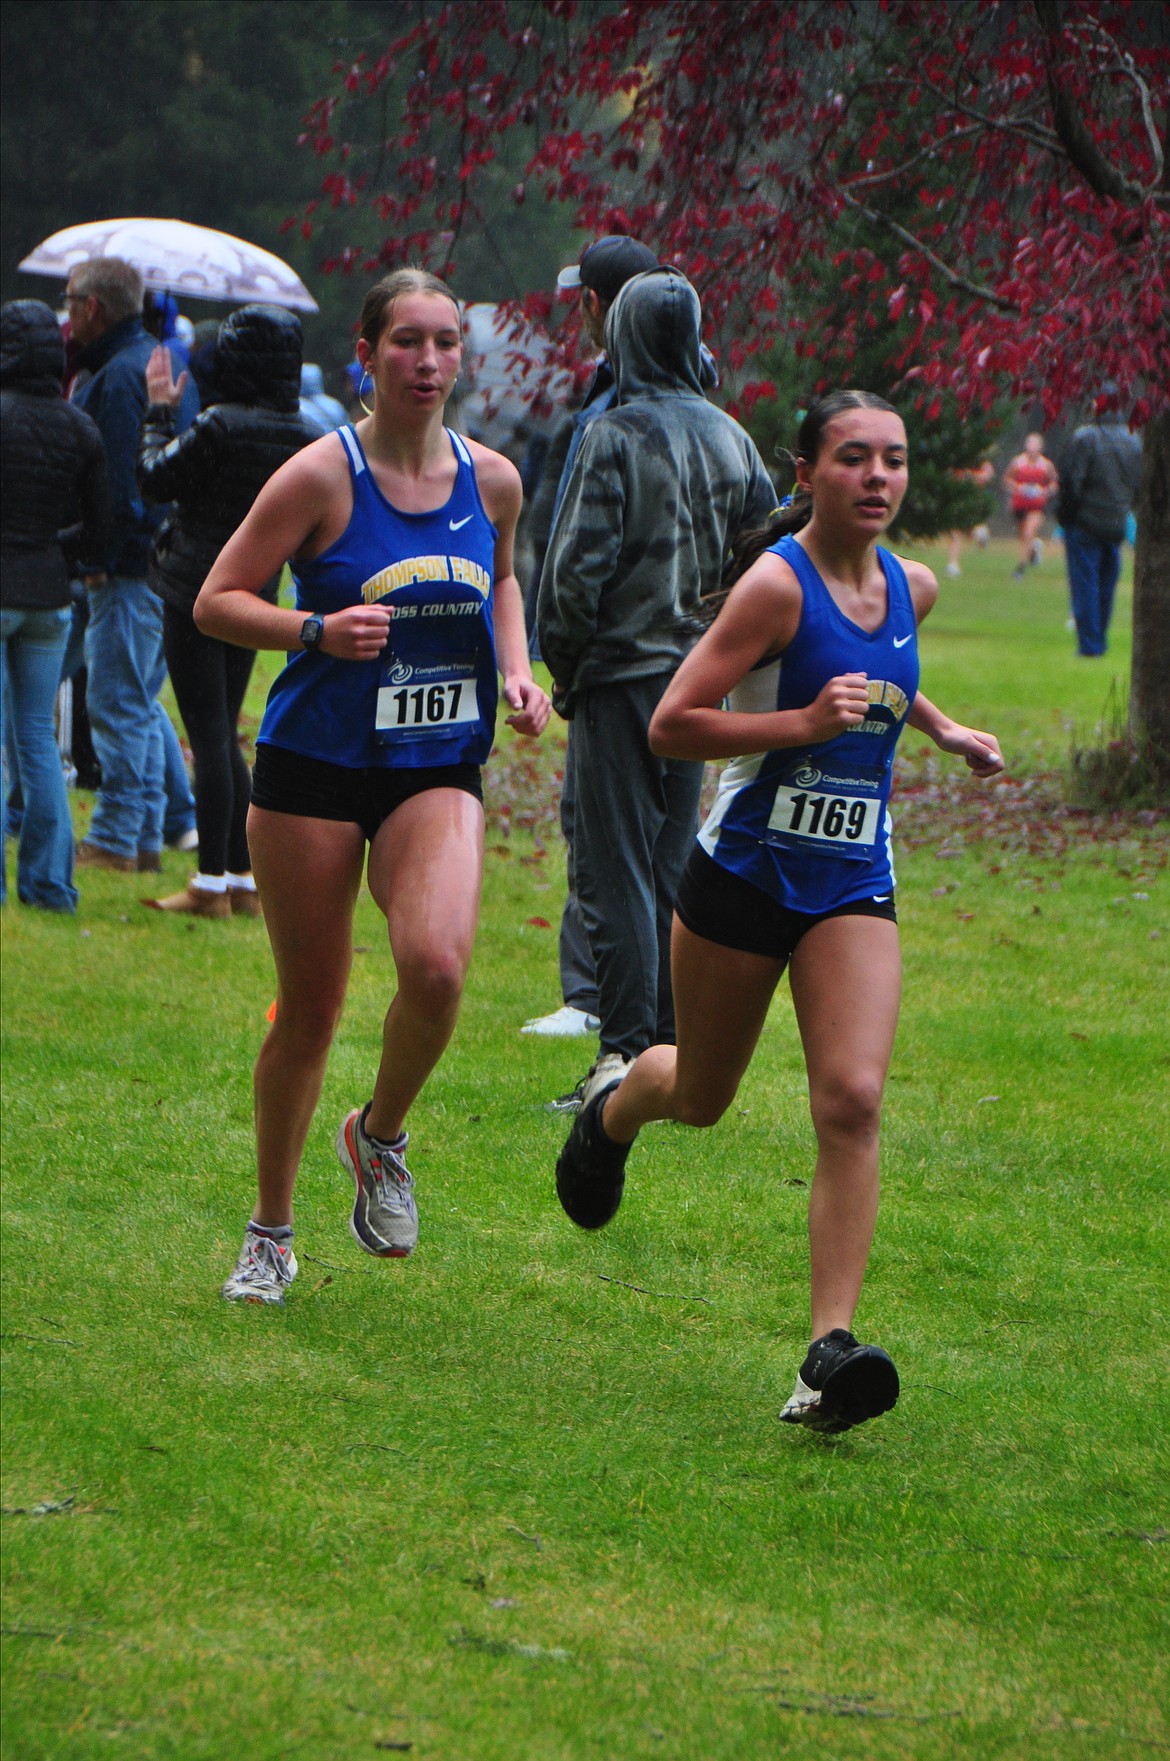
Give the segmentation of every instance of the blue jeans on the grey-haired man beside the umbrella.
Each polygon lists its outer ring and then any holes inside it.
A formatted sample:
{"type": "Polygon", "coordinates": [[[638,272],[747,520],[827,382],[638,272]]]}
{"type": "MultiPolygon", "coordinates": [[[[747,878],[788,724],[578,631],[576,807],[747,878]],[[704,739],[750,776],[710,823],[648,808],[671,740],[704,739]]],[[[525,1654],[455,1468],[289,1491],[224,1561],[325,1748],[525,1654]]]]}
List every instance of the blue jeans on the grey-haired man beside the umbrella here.
{"type": "Polygon", "coordinates": [[[159,704],[166,664],[162,601],[146,581],[111,576],[90,588],[85,659],[93,750],[102,766],[86,842],[115,856],[157,851],[166,812],[159,704]]]}

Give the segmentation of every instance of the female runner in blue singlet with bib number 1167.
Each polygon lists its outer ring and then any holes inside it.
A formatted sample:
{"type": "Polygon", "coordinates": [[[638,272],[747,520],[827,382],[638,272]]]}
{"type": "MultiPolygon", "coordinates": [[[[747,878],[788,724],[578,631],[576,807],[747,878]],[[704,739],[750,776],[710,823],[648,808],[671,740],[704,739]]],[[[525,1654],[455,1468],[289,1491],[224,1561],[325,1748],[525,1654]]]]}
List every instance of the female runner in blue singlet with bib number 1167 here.
{"type": "Polygon", "coordinates": [[[476,937],[497,669],[509,726],[539,734],[550,711],[513,574],[520,475],[442,424],[462,356],[455,296],[396,269],[367,294],[359,329],[374,414],[270,479],[196,604],[204,634],[289,652],[248,814],[277,1011],[255,1064],[259,1197],[229,1300],[284,1301],[296,1275],[292,1185],[345,1000],[367,844],[398,991],[374,1097],[342,1120],[337,1152],[358,1245],[414,1249],[405,1116],[455,1028],[476,937]],[[287,558],[294,611],[259,597],[287,558]]]}

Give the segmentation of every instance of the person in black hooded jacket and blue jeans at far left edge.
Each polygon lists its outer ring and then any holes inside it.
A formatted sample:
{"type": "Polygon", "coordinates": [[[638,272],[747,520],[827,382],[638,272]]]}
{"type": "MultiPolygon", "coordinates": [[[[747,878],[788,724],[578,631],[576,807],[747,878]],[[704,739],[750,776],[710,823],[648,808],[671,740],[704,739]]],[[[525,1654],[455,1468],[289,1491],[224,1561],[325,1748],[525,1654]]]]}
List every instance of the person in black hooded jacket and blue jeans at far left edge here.
{"type": "MultiPolygon", "coordinates": [[[[102,437],[62,396],[65,340],[41,299],[0,313],[0,724],[12,729],[23,796],[16,889],[74,910],[74,840],[53,704],[72,625],[67,549],[100,558],[109,523],[102,437]],[[81,523],[72,530],[74,512],[81,523]]],[[[16,778],[12,778],[16,780],[16,778]]],[[[0,866],[0,900],[5,896],[0,866]]]]}

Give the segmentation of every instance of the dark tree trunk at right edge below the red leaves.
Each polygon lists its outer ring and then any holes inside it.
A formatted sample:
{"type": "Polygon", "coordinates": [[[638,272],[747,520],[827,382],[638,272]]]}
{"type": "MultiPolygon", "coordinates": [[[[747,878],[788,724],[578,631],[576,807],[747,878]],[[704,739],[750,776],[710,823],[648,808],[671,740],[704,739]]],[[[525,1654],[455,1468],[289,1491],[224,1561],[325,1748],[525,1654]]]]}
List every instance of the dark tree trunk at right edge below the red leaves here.
{"type": "Polygon", "coordinates": [[[1170,410],[1145,430],[1137,516],[1129,733],[1170,791],[1170,410]]]}

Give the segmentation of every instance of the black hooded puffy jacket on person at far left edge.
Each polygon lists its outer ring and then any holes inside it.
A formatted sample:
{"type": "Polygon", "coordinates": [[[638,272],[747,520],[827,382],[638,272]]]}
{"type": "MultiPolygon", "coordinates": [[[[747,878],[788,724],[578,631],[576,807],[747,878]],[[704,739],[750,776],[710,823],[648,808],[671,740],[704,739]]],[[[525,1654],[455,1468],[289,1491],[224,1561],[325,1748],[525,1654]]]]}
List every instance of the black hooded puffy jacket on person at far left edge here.
{"type": "Polygon", "coordinates": [[[69,574],[106,553],[109,481],[97,424],[62,396],[65,342],[41,299],[0,310],[0,606],[69,604],[69,574]]]}

